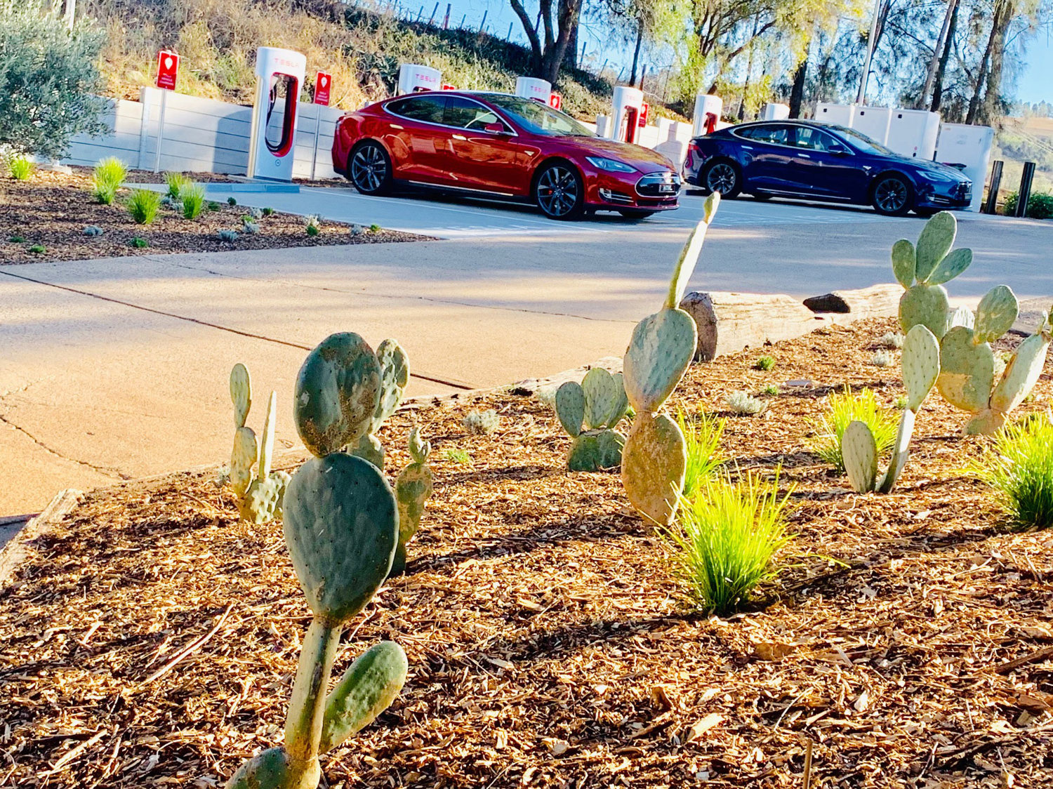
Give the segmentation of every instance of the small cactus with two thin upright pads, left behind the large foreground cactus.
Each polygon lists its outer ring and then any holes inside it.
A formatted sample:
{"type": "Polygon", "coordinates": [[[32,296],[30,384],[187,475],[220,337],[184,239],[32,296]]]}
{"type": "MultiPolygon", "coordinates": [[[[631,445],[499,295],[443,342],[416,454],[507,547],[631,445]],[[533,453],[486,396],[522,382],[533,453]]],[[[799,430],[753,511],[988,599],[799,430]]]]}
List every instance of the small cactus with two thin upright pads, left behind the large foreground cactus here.
{"type": "Polygon", "coordinates": [[[252,379],[249,370],[237,363],[231,370],[231,400],[234,403],[234,449],[231,451],[231,488],[238,497],[238,515],[251,524],[265,524],[281,517],[281,505],[290,476],[271,471],[274,454],[274,425],[277,395],[272,392],[263,422],[263,440],[245,427],[252,408],[252,379]]]}

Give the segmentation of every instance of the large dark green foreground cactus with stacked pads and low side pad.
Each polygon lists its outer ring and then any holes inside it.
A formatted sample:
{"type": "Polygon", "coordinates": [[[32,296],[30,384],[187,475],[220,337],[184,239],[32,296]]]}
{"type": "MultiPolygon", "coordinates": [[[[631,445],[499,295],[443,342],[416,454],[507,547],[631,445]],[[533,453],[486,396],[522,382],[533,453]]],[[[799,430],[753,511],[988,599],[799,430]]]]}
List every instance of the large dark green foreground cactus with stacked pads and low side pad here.
{"type": "Polygon", "coordinates": [[[227,789],[315,789],[318,756],[372,722],[405,683],[401,647],[379,644],[329,692],[340,632],[388,576],[398,544],[398,506],[380,470],[340,452],[363,435],[378,393],[378,362],[357,334],[312,351],[296,381],[296,427],[316,455],[293,475],[282,529],[313,614],[293,685],[285,744],[242,765],[227,789]]]}

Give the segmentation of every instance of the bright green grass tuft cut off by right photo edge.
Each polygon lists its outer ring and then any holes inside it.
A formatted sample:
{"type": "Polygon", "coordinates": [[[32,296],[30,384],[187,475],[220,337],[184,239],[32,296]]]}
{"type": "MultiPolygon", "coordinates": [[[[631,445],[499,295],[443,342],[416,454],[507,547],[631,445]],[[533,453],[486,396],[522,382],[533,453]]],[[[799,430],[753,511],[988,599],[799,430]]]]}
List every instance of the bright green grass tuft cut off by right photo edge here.
{"type": "Polygon", "coordinates": [[[1007,425],[973,471],[994,488],[1013,529],[1053,527],[1053,421],[1048,415],[1007,425]]]}

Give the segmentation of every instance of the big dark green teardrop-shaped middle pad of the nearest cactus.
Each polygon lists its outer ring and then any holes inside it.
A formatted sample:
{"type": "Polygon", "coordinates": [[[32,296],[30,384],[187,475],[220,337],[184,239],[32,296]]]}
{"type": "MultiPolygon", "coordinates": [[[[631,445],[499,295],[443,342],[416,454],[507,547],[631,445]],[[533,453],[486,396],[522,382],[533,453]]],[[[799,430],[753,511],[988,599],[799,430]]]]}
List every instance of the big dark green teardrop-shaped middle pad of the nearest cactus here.
{"type": "Polygon", "coordinates": [[[307,460],[283,504],[285,544],[315,615],[339,624],[383,583],[398,543],[398,511],[373,463],[336,453],[307,460]]]}

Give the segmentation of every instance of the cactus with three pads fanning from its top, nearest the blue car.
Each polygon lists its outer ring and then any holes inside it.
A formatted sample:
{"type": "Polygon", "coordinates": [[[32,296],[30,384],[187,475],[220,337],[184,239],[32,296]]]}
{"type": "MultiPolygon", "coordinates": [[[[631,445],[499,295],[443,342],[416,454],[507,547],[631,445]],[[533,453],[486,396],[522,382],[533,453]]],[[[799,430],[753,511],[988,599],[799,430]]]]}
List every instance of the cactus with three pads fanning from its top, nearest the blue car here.
{"type": "Polygon", "coordinates": [[[951,252],[957,229],[954,214],[941,211],[926,222],[916,248],[906,238],[893,245],[892,272],[905,289],[899,299],[899,326],[905,333],[918,323],[937,339],[947,333],[950,303],[943,283],[973,261],[972,250],[951,252]]]}

